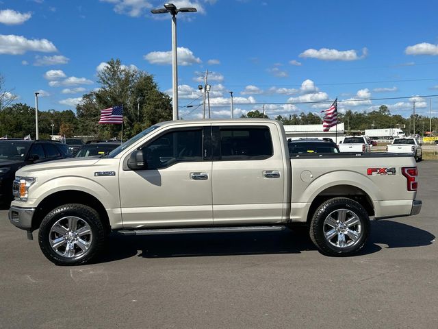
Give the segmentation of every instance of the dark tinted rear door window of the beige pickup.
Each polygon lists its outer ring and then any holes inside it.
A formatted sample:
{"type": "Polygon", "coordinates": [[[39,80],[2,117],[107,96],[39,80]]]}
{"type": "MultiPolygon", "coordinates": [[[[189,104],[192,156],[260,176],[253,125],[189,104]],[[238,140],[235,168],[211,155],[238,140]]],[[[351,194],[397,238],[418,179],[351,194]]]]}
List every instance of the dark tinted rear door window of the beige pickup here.
{"type": "Polygon", "coordinates": [[[226,127],[220,129],[222,160],[263,160],[272,156],[268,127],[226,127]]]}

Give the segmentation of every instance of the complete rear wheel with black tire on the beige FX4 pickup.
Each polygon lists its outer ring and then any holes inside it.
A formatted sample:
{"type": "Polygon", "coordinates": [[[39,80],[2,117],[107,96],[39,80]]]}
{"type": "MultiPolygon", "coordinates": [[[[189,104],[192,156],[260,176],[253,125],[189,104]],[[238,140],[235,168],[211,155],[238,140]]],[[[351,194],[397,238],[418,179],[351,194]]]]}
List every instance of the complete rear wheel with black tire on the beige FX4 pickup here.
{"type": "Polygon", "coordinates": [[[326,256],[356,254],[368,241],[368,236],[368,213],[361,204],[346,197],[323,202],[311,219],[310,238],[326,256]]]}

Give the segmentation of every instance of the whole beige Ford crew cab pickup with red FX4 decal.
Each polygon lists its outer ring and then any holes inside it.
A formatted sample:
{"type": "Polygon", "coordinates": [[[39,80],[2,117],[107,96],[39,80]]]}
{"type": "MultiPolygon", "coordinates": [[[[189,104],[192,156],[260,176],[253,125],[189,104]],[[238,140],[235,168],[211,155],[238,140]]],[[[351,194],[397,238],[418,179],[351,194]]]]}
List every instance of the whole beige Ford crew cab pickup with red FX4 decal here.
{"type": "Polygon", "coordinates": [[[267,119],[169,121],[102,158],[19,169],[9,219],[39,229],[44,255],[86,263],[107,234],[283,230],[307,224],[320,252],[365,245],[370,217],[415,215],[411,156],[305,154],[289,158],[283,125],[267,119]]]}

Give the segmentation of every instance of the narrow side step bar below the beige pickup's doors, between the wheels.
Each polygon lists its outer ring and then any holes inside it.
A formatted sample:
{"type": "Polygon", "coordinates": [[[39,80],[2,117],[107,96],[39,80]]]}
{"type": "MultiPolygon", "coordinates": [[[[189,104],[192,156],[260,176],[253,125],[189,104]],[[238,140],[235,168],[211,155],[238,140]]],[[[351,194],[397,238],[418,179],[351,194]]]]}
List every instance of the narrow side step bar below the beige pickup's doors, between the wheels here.
{"type": "Polygon", "coordinates": [[[218,228],[156,228],[149,230],[120,230],[123,235],[187,234],[187,233],[232,233],[232,232],[266,232],[283,231],[285,226],[231,226],[218,228]]]}

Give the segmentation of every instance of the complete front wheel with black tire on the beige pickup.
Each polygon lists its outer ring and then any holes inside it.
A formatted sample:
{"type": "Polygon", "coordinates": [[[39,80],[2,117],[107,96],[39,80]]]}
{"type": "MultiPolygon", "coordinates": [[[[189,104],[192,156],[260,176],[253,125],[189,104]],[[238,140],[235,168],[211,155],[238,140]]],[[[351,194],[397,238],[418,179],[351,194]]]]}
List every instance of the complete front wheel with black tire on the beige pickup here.
{"type": "Polygon", "coordinates": [[[44,256],[52,263],[79,265],[90,262],[101,252],[105,237],[105,229],[96,210],[83,204],[64,204],[44,217],[38,232],[38,243],[44,256]]]}

